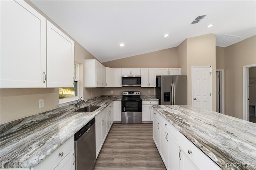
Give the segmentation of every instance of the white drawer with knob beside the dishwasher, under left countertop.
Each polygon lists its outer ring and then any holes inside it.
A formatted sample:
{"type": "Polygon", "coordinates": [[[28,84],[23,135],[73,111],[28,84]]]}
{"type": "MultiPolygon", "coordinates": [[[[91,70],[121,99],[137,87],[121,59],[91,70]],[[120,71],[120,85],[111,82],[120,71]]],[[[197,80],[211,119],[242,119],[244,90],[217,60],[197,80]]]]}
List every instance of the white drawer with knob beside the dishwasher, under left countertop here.
{"type": "Polygon", "coordinates": [[[64,159],[70,150],[74,148],[74,136],[68,139],[64,144],[62,144],[58,149],[56,149],[48,158],[43,160],[40,164],[35,166],[34,170],[46,170],[54,169],[61,161],[64,159]],[[63,155],[59,155],[62,154],[63,155]]]}

